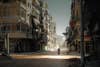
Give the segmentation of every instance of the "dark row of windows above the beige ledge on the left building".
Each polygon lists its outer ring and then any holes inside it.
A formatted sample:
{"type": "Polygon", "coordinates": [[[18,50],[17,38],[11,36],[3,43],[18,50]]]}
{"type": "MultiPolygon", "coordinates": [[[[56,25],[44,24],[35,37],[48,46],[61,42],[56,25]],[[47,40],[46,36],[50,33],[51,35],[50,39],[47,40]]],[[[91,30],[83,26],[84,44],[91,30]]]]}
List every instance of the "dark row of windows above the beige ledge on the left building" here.
{"type": "Polygon", "coordinates": [[[24,32],[30,33],[31,29],[24,24],[0,23],[0,33],[24,32]]]}

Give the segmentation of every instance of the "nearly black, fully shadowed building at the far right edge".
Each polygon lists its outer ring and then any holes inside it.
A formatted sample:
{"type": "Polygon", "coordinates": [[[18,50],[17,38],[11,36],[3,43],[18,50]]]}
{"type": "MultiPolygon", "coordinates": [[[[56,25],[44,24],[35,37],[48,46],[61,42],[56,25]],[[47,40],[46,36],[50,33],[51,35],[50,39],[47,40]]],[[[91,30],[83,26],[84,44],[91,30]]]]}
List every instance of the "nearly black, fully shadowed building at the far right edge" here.
{"type": "Polygon", "coordinates": [[[85,5],[85,21],[87,21],[87,32],[90,34],[92,39],[92,54],[100,59],[100,2],[98,0],[84,0],[85,5]]]}

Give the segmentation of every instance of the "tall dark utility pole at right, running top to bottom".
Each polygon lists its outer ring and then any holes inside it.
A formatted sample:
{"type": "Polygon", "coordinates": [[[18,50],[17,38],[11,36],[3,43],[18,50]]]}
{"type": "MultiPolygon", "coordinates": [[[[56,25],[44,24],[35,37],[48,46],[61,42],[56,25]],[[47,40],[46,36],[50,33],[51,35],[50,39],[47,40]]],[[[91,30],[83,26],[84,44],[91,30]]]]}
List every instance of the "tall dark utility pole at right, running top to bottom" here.
{"type": "Polygon", "coordinates": [[[84,0],[80,0],[80,53],[81,67],[85,67],[85,52],[84,52],[84,17],[83,17],[84,0]]]}

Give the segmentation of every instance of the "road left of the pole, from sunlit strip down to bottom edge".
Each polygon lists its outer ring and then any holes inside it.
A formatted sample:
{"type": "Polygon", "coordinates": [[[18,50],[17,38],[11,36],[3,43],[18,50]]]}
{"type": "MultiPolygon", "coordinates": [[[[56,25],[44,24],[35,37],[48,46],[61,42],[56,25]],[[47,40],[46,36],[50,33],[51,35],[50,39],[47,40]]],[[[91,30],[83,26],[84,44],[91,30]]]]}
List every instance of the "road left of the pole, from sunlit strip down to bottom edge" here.
{"type": "Polygon", "coordinates": [[[79,67],[78,58],[68,58],[69,56],[0,56],[0,67],[79,67]],[[29,58],[30,57],[30,58],[29,58]],[[64,58],[66,57],[66,58],[64,58]]]}

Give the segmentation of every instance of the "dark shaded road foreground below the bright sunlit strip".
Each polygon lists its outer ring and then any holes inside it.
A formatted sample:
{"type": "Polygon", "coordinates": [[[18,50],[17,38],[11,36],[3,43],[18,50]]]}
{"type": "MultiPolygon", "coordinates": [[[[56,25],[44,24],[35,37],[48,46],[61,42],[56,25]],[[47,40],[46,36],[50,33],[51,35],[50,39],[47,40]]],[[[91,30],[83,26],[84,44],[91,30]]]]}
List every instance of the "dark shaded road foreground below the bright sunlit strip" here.
{"type": "MultiPolygon", "coordinates": [[[[3,57],[4,58],[4,57],[3,57]]],[[[18,58],[7,58],[0,60],[0,67],[71,67],[79,63],[79,59],[18,59],[18,58]]]]}

